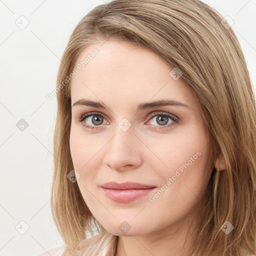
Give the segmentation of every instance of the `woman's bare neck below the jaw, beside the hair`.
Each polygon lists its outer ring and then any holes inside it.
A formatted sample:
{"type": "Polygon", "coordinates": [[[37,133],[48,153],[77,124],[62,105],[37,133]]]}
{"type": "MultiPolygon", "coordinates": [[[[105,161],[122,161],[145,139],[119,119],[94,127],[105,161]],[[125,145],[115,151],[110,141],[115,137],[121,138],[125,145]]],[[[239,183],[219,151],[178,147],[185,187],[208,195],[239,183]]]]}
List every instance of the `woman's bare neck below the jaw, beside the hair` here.
{"type": "Polygon", "coordinates": [[[116,256],[191,256],[200,225],[199,215],[195,216],[191,219],[189,214],[155,232],[118,236],[116,256]]]}

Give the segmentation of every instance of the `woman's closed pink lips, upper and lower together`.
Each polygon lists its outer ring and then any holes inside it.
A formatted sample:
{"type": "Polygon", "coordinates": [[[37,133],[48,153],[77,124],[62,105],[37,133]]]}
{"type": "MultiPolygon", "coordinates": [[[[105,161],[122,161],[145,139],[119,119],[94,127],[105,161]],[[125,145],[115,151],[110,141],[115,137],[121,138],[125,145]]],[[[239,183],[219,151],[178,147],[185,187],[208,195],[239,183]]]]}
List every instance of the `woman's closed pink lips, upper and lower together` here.
{"type": "Polygon", "coordinates": [[[115,202],[131,202],[145,196],[156,188],[154,185],[141,184],[136,182],[117,183],[107,182],[101,185],[104,194],[115,202]]]}

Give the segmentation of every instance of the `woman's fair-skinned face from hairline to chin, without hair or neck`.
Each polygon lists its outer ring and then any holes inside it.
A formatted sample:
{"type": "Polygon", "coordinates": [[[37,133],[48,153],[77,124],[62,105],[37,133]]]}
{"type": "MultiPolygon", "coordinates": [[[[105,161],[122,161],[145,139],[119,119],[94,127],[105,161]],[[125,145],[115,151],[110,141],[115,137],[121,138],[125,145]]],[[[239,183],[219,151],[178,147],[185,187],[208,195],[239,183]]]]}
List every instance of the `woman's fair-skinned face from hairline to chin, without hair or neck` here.
{"type": "Polygon", "coordinates": [[[182,76],[150,49],[118,40],[86,47],[75,68],[70,151],[98,222],[121,236],[200,218],[213,166],[206,170],[206,125],[182,76]],[[111,181],[151,188],[106,188],[111,181]]]}

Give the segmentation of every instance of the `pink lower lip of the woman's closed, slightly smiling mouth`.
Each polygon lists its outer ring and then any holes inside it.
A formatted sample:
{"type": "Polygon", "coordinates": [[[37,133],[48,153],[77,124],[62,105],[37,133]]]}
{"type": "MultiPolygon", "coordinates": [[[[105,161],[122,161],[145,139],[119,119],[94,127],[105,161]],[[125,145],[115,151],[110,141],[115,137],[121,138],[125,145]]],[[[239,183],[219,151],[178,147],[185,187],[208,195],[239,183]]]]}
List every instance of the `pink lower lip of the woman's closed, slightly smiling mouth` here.
{"type": "Polygon", "coordinates": [[[153,191],[156,187],[147,189],[108,189],[102,187],[105,195],[115,202],[131,202],[137,198],[147,195],[153,191]]]}

